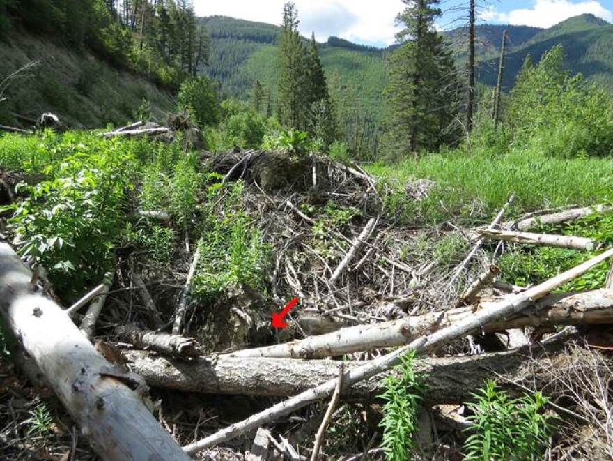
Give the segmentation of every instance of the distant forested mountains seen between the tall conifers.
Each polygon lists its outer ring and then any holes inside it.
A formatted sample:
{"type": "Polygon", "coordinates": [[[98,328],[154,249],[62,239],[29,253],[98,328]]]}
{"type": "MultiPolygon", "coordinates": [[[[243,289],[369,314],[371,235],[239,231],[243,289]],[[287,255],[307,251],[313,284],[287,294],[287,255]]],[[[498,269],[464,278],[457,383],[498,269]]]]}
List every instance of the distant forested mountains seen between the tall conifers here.
{"type": "MultiPolygon", "coordinates": [[[[208,73],[221,82],[228,96],[248,98],[255,79],[274,92],[274,41],[280,28],[272,24],[236,20],[231,17],[201,18],[211,34],[211,59],[208,73]]],[[[582,72],[590,80],[613,88],[613,25],[593,15],[581,15],[550,29],[527,26],[481,24],[477,31],[477,59],[481,82],[492,85],[496,80],[502,31],[509,31],[509,56],[504,85],[515,81],[527,53],[538,60],[557,43],[564,45],[568,67],[582,72]]],[[[462,66],[466,60],[465,28],[446,33],[451,48],[462,66]]],[[[306,39],[305,39],[306,40],[306,39]]],[[[385,56],[378,50],[332,37],[320,45],[327,75],[333,91],[351,92],[357,106],[375,116],[382,110],[380,98],[386,82],[385,56]]]]}

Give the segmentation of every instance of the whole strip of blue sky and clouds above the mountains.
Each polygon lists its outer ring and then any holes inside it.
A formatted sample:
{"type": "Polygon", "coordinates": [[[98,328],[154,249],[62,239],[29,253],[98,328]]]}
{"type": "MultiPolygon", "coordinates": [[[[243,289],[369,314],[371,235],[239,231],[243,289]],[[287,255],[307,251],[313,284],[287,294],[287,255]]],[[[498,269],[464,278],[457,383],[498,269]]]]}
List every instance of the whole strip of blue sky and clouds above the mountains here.
{"type": "MultiPolygon", "coordinates": [[[[300,32],[315,32],[319,41],[331,35],[366,45],[387,46],[394,43],[396,15],[401,0],[294,0],[300,14],[300,32]]],[[[477,0],[479,1],[479,0],[477,0]]],[[[285,0],[194,0],[201,16],[225,15],[245,20],[279,24],[285,0]]],[[[458,6],[467,0],[442,0],[445,11],[437,27],[449,29],[460,25],[465,14],[458,6]]],[[[583,13],[592,13],[613,22],[613,0],[481,0],[481,23],[551,27],[583,13]]]]}

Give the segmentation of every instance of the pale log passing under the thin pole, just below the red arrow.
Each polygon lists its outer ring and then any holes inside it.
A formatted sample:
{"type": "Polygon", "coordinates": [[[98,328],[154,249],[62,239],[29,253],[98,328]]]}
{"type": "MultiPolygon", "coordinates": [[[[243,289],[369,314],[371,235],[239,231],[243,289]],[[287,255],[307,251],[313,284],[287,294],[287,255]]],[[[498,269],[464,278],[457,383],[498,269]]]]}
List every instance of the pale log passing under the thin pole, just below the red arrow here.
{"type": "MultiPolygon", "coordinates": [[[[504,301],[502,301],[504,302],[504,301]]],[[[311,336],[281,345],[243,349],[228,354],[233,357],[324,358],[351,352],[367,352],[408,344],[414,338],[447,328],[490,308],[492,301],[480,305],[425,315],[405,317],[391,322],[350,326],[333,333],[311,336]]],[[[588,325],[613,323],[613,290],[599,289],[580,293],[550,294],[536,305],[526,305],[520,315],[483,326],[493,333],[528,326],[588,325]]]]}

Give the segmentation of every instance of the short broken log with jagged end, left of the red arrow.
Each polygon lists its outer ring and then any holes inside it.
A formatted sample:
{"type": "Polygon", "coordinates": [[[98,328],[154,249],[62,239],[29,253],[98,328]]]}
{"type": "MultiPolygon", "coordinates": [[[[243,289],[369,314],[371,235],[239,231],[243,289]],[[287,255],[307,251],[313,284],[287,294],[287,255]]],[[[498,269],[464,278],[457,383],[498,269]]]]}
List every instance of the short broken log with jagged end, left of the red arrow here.
{"type": "Polygon", "coordinates": [[[124,342],[139,349],[150,349],[171,357],[199,357],[200,349],[196,340],[179,335],[166,335],[154,331],[143,331],[134,326],[118,326],[115,332],[124,342]]]}

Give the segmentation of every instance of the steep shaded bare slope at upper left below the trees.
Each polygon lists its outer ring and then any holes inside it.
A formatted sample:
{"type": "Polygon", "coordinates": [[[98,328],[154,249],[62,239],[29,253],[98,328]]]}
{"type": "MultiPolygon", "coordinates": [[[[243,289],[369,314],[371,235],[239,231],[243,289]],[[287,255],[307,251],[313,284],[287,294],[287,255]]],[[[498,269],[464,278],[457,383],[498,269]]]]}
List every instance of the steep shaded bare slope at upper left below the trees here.
{"type": "Polygon", "coordinates": [[[173,107],[173,98],[149,80],[117,70],[89,52],[25,31],[0,40],[0,80],[31,61],[40,65],[30,79],[10,86],[1,124],[20,126],[13,114],[34,118],[54,112],[71,128],[98,128],[131,119],[143,98],[159,118],[173,107]]]}

